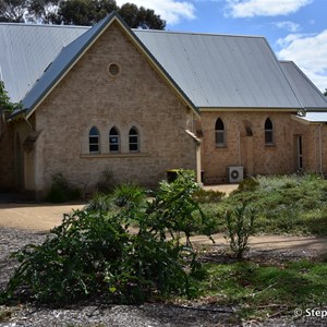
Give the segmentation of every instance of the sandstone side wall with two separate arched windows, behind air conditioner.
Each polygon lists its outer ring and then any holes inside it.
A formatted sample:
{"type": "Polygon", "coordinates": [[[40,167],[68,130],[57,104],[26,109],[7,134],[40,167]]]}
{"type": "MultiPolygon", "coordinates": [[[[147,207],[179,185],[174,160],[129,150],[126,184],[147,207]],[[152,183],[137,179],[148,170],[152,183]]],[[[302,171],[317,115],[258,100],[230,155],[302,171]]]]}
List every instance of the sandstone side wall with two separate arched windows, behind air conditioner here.
{"type": "MultiPolygon", "coordinates": [[[[318,126],[291,119],[290,112],[202,112],[202,169],[207,183],[226,182],[229,166],[243,166],[244,175],[298,170],[296,137],[302,136],[303,169],[319,172],[318,126]],[[215,123],[225,123],[226,147],[215,144],[215,123]],[[265,121],[274,124],[274,145],[265,144],[265,121]],[[250,135],[252,132],[252,135],[250,135]]],[[[322,132],[323,169],[327,172],[327,128],[322,132]]]]}

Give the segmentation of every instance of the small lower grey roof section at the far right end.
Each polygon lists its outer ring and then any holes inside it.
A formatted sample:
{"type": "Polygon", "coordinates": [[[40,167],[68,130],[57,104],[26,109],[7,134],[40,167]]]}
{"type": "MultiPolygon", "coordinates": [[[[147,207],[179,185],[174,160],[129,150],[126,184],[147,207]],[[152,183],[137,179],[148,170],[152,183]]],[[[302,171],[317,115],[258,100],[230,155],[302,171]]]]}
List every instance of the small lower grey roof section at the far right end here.
{"type": "Polygon", "coordinates": [[[293,61],[280,61],[280,66],[306,110],[327,110],[326,97],[293,61]]]}

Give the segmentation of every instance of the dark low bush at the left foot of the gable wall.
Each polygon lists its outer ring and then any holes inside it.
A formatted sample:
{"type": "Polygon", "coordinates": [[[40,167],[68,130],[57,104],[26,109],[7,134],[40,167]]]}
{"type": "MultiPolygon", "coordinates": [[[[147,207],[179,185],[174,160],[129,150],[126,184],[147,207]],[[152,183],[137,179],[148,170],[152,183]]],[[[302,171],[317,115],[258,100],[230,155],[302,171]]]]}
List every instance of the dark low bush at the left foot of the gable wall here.
{"type": "Polygon", "coordinates": [[[48,193],[47,201],[52,203],[62,203],[82,197],[82,191],[72,185],[62,173],[52,175],[51,189],[48,193]]]}

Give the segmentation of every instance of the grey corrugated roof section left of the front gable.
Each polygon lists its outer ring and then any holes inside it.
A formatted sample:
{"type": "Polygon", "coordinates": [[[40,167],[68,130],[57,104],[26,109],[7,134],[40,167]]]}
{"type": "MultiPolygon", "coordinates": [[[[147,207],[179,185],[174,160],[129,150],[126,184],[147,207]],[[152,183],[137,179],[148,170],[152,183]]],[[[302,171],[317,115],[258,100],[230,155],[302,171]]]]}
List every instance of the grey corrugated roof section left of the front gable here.
{"type": "Polygon", "coordinates": [[[0,78],[20,101],[63,47],[87,27],[0,23],[0,78]]]}

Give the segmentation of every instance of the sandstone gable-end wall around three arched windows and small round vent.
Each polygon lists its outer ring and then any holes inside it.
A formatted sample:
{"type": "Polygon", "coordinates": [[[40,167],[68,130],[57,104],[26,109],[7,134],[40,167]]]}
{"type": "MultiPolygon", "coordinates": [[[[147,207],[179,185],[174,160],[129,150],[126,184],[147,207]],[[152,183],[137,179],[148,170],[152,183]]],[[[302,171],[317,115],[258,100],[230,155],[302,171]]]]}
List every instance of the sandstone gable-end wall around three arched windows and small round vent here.
{"type": "Polygon", "coordinates": [[[192,112],[114,23],[35,111],[35,187],[61,172],[81,186],[109,170],[116,182],[155,185],[173,168],[195,169],[195,142],[185,133],[192,112]],[[120,68],[108,73],[110,63],[120,68]],[[88,133],[100,132],[100,153],[89,154],[88,133]],[[109,153],[109,131],[121,153],[109,153]],[[129,152],[129,131],[140,132],[140,153],[129,152]]]}

